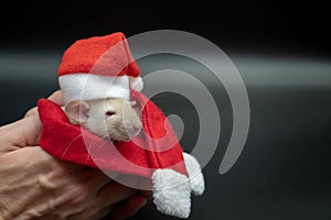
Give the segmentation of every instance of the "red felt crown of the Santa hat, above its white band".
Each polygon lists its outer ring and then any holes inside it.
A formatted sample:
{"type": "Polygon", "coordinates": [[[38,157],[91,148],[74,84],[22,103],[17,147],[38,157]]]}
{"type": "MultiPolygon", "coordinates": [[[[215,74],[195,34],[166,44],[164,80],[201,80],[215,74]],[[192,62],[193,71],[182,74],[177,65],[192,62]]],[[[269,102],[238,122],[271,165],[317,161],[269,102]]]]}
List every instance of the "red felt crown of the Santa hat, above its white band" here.
{"type": "Polygon", "coordinates": [[[121,32],[78,40],[72,44],[62,57],[57,74],[63,76],[76,73],[132,77],[140,75],[121,32]]]}

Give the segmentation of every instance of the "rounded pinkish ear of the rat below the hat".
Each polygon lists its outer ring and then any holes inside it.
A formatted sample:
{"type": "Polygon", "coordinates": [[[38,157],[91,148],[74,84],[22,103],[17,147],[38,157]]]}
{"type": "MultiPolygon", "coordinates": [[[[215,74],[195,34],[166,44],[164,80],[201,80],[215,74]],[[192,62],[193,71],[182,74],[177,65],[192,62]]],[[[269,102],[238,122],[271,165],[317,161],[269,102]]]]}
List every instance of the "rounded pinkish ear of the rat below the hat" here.
{"type": "Polygon", "coordinates": [[[65,107],[70,120],[73,123],[84,123],[88,119],[89,103],[85,101],[72,101],[65,107]]]}

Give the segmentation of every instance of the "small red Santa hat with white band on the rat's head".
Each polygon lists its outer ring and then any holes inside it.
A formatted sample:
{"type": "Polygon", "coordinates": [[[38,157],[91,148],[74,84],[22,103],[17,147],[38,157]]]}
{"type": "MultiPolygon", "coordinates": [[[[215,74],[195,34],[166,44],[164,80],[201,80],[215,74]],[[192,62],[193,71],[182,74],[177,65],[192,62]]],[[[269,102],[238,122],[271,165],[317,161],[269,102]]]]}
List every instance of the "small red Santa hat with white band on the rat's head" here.
{"type": "Polygon", "coordinates": [[[140,70],[120,32],[78,40],[63,55],[58,82],[64,102],[105,98],[129,99],[142,90],[140,70]]]}

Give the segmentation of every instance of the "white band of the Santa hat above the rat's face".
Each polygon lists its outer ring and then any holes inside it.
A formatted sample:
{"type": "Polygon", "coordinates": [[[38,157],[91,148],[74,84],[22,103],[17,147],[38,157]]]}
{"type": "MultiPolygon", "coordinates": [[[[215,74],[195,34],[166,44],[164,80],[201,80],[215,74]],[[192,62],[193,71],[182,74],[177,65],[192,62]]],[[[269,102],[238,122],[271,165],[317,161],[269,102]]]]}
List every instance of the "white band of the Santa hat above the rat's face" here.
{"type": "Polygon", "coordinates": [[[129,100],[128,76],[100,76],[95,74],[68,74],[58,77],[64,102],[105,98],[129,100]]]}

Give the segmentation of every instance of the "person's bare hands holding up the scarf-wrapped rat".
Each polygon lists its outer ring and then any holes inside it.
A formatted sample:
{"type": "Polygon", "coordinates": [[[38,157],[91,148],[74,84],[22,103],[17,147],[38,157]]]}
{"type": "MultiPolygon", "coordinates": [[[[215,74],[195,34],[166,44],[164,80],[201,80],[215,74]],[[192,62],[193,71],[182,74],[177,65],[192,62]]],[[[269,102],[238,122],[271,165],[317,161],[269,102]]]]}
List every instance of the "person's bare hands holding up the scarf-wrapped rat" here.
{"type": "MultiPolygon", "coordinates": [[[[60,91],[50,100],[63,105],[60,91]]],[[[126,219],[150,198],[103,172],[61,162],[39,145],[42,124],[36,108],[0,128],[0,219],[126,219]]]]}

